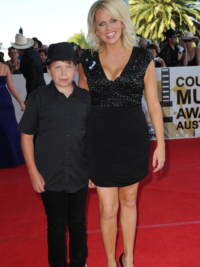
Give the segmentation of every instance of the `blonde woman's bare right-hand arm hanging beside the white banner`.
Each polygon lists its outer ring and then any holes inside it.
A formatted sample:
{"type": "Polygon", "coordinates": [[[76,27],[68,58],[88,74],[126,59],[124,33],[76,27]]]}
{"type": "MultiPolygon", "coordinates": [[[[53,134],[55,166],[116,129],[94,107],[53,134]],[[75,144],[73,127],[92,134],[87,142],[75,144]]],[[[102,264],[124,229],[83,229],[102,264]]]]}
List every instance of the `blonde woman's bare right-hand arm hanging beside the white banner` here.
{"type": "Polygon", "coordinates": [[[165,162],[165,141],[162,111],[158,101],[157,79],[153,60],[146,69],[144,85],[147,107],[157,139],[157,148],[155,149],[153,155],[153,167],[156,165],[156,160],[158,160],[158,164],[161,164],[161,166],[157,166],[153,171],[157,172],[163,167],[165,162]]]}

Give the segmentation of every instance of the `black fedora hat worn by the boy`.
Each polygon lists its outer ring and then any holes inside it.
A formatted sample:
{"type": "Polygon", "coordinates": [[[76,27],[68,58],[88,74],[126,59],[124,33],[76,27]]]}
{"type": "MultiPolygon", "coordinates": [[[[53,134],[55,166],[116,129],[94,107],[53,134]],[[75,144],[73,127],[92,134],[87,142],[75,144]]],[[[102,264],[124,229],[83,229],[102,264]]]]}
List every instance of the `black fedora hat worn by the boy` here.
{"type": "Polygon", "coordinates": [[[74,48],[69,42],[58,42],[50,44],[47,54],[46,62],[42,63],[46,66],[49,62],[53,61],[79,61],[74,53],[74,48]]]}

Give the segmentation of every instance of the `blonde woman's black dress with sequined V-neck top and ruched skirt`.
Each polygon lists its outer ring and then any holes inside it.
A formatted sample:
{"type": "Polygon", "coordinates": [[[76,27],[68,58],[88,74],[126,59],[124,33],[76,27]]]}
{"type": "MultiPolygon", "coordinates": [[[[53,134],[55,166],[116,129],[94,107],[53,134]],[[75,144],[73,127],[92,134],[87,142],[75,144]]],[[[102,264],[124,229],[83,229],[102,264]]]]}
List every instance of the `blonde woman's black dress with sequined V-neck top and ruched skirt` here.
{"type": "Polygon", "coordinates": [[[80,56],[93,105],[87,121],[86,154],[90,179],[97,186],[128,186],[149,172],[150,138],[142,94],[152,59],[150,50],[133,47],[121,75],[110,81],[98,52],[91,55],[86,49],[80,56]]]}

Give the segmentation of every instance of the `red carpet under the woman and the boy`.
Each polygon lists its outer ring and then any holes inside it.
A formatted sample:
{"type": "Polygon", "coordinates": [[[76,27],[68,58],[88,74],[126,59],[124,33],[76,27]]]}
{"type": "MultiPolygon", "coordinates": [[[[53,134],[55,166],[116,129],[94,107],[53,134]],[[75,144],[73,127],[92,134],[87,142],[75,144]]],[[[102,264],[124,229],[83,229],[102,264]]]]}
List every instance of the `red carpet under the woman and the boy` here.
{"type": "MultiPolygon", "coordinates": [[[[155,148],[151,142],[151,157],[155,148]]],[[[166,163],[139,184],[135,267],[200,266],[200,138],[166,140],[166,163]]],[[[26,165],[0,170],[1,267],[47,267],[46,216],[26,165]]],[[[98,197],[87,200],[88,267],[105,267],[98,197]]],[[[120,228],[120,225],[119,225],[120,228]]],[[[66,236],[68,240],[68,236],[66,236]]],[[[118,231],[117,260],[122,253],[118,231]]]]}

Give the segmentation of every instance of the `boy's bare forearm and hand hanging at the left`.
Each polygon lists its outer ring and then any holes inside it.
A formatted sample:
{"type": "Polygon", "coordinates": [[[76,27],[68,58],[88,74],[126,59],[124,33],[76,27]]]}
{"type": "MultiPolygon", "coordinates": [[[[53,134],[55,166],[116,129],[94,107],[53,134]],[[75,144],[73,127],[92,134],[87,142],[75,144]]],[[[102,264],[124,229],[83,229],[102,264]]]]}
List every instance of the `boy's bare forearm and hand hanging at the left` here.
{"type": "Polygon", "coordinates": [[[26,166],[30,175],[31,184],[36,192],[42,193],[45,191],[45,182],[42,175],[38,172],[35,164],[33,138],[34,135],[27,135],[22,133],[21,146],[26,161],[26,166]]]}

